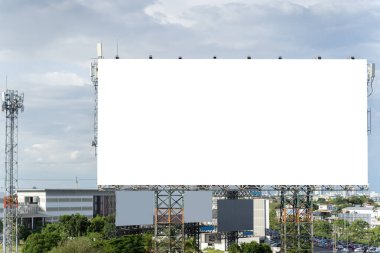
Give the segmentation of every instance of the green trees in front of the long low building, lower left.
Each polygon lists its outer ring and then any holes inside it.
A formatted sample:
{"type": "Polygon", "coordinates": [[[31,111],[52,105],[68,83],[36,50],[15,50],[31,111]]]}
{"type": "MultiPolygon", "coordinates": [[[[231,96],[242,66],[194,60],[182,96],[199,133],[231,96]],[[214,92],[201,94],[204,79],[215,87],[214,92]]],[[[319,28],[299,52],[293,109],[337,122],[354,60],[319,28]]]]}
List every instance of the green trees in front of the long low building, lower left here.
{"type": "Polygon", "coordinates": [[[19,231],[23,253],[145,253],[152,251],[152,235],[116,237],[114,217],[87,219],[80,214],[63,215],[40,231],[19,231]]]}

